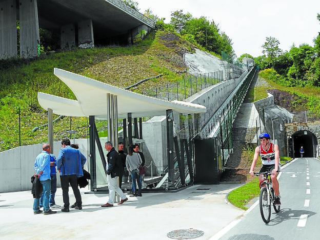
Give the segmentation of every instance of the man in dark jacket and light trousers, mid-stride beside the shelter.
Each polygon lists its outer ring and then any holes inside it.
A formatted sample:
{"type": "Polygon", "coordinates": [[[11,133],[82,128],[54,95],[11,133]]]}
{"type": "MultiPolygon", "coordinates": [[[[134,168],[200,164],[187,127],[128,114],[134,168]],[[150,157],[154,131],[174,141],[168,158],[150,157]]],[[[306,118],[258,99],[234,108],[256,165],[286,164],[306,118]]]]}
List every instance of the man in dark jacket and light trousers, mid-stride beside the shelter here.
{"type": "Polygon", "coordinates": [[[128,200],[126,195],[123,193],[121,188],[119,188],[116,184],[118,181],[119,172],[121,172],[122,163],[119,159],[119,154],[115,151],[114,147],[112,147],[111,142],[107,142],[105,144],[105,149],[108,151],[107,153],[107,161],[108,161],[108,169],[107,169],[107,181],[109,188],[109,200],[106,204],[101,205],[101,207],[113,207],[113,199],[115,193],[119,194],[121,197],[120,203],[118,205],[122,205],[124,202],[128,200]]]}

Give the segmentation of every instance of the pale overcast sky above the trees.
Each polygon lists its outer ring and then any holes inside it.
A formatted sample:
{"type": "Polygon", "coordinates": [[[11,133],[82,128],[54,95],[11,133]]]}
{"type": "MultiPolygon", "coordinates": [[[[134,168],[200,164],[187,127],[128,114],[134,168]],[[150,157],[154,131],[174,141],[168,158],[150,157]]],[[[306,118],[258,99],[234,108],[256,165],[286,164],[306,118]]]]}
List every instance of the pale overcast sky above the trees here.
{"type": "Polygon", "coordinates": [[[170,13],[183,9],[193,17],[206,16],[232,39],[237,56],[262,54],[267,36],[280,42],[282,50],[307,43],[320,32],[316,15],[320,0],[134,0],[143,13],[150,8],[159,17],[170,21],[170,13]]]}

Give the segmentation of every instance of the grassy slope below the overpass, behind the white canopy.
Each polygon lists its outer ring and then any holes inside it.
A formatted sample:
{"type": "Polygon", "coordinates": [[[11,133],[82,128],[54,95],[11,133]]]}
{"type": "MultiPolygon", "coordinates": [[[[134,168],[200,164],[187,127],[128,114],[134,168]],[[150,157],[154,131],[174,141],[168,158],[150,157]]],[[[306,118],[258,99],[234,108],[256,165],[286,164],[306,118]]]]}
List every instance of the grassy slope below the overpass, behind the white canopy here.
{"type": "MultiPolygon", "coordinates": [[[[185,67],[178,61],[174,48],[163,44],[159,36],[164,32],[152,33],[147,38],[129,47],[103,47],[76,49],[38,58],[29,63],[21,61],[7,69],[0,69],[0,151],[18,146],[18,108],[22,116],[22,145],[47,141],[47,128],[36,132],[31,130],[47,123],[47,113],[37,102],[37,92],[50,93],[75,99],[71,90],[54,74],[53,68],[61,68],[74,73],[109,83],[118,87],[129,86],[143,78],[163,74],[157,81],[142,85],[162,85],[177,81],[182,76],[176,74],[185,67]]],[[[190,44],[178,41],[175,45],[190,49],[190,44]]],[[[137,88],[136,91],[141,91],[137,88]]],[[[105,131],[106,124],[98,124],[99,131],[105,131]]],[[[54,124],[54,140],[67,136],[70,118],[64,117],[54,124]]],[[[77,137],[87,137],[87,118],[73,117],[72,129],[77,137]]]]}

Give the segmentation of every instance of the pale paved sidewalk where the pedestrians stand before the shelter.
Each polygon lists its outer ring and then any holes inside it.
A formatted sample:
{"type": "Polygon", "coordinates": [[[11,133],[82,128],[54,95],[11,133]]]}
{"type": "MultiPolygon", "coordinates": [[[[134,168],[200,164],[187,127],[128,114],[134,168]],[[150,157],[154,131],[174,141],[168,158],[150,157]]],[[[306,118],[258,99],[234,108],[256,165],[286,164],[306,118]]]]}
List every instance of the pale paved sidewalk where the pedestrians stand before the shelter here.
{"type": "MultiPolygon", "coordinates": [[[[57,209],[53,215],[33,214],[30,191],[0,193],[0,239],[170,239],[168,232],[189,228],[205,232],[195,239],[209,239],[244,213],[225,201],[238,186],[196,185],[177,193],[143,193],[111,208],[100,207],[108,194],[82,192],[83,210],[57,209]]],[[[71,188],[69,195],[72,204],[71,188]]],[[[55,200],[63,205],[61,188],[55,200]]]]}

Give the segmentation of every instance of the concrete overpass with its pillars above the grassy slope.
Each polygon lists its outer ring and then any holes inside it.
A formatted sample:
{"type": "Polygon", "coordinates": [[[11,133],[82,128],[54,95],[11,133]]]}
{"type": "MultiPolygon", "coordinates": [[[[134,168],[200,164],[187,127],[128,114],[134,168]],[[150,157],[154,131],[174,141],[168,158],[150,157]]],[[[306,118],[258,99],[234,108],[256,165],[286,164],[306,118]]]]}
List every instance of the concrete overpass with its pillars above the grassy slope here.
{"type": "Polygon", "coordinates": [[[95,44],[130,44],[155,23],[121,0],[0,0],[0,59],[38,55],[39,28],[60,35],[61,49],[95,44]]]}

